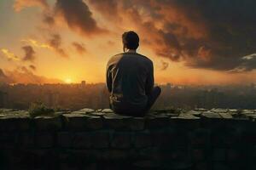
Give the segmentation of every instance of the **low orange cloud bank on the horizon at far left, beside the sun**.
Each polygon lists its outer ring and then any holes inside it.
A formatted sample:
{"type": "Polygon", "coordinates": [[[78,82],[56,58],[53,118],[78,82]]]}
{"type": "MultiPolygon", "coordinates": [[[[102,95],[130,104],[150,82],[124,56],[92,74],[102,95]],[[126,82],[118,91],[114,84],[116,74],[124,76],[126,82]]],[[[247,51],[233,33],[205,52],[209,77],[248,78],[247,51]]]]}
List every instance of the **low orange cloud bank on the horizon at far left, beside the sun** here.
{"type": "Polygon", "coordinates": [[[40,77],[29,71],[25,66],[17,67],[14,71],[5,71],[5,74],[0,69],[0,82],[5,83],[60,83],[61,80],[40,77]]]}

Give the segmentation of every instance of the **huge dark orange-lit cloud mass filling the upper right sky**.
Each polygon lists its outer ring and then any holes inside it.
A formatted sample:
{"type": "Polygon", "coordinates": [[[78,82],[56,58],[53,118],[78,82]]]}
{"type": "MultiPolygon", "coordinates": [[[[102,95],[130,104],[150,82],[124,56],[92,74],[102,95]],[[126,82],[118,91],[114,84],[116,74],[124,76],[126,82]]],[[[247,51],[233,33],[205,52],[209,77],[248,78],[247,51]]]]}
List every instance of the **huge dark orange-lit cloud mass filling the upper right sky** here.
{"type": "Polygon", "coordinates": [[[89,0],[89,4],[114,26],[132,27],[160,57],[217,71],[256,69],[253,60],[242,58],[256,52],[255,1],[89,0]]]}

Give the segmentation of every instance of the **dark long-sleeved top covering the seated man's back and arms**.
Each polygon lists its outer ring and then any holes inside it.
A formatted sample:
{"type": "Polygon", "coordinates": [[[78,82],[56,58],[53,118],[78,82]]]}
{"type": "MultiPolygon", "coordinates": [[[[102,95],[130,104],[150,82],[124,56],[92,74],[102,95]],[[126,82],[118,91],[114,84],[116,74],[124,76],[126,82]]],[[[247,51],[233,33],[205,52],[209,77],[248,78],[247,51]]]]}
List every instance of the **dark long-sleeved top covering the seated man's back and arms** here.
{"type": "Polygon", "coordinates": [[[113,56],[107,65],[107,86],[115,110],[143,111],[154,87],[152,61],[137,53],[113,56]]]}

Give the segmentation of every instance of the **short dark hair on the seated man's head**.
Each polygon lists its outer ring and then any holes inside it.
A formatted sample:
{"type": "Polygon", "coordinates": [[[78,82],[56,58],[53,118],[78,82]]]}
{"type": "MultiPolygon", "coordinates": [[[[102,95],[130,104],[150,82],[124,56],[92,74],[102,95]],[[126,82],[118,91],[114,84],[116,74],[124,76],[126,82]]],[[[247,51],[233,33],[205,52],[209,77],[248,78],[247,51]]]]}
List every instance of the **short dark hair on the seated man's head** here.
{"type": "Polygon", "coordinates": [[[135,31],[126,31],[122,35],[124,50],[128,49],[137,49],[139,46],[140,38],[138,37],[135,31]]]}

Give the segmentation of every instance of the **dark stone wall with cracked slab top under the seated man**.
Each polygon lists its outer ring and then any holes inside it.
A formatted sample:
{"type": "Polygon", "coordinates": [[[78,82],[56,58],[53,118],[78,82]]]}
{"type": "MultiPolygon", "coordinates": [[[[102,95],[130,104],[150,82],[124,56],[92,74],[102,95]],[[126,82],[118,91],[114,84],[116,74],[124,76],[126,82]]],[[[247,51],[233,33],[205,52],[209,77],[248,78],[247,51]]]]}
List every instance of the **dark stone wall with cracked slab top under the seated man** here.
{"type": "Polygon", "coordinates": [[[256,169],[255,111],[0,110],[0,169],[256,169]]]}

